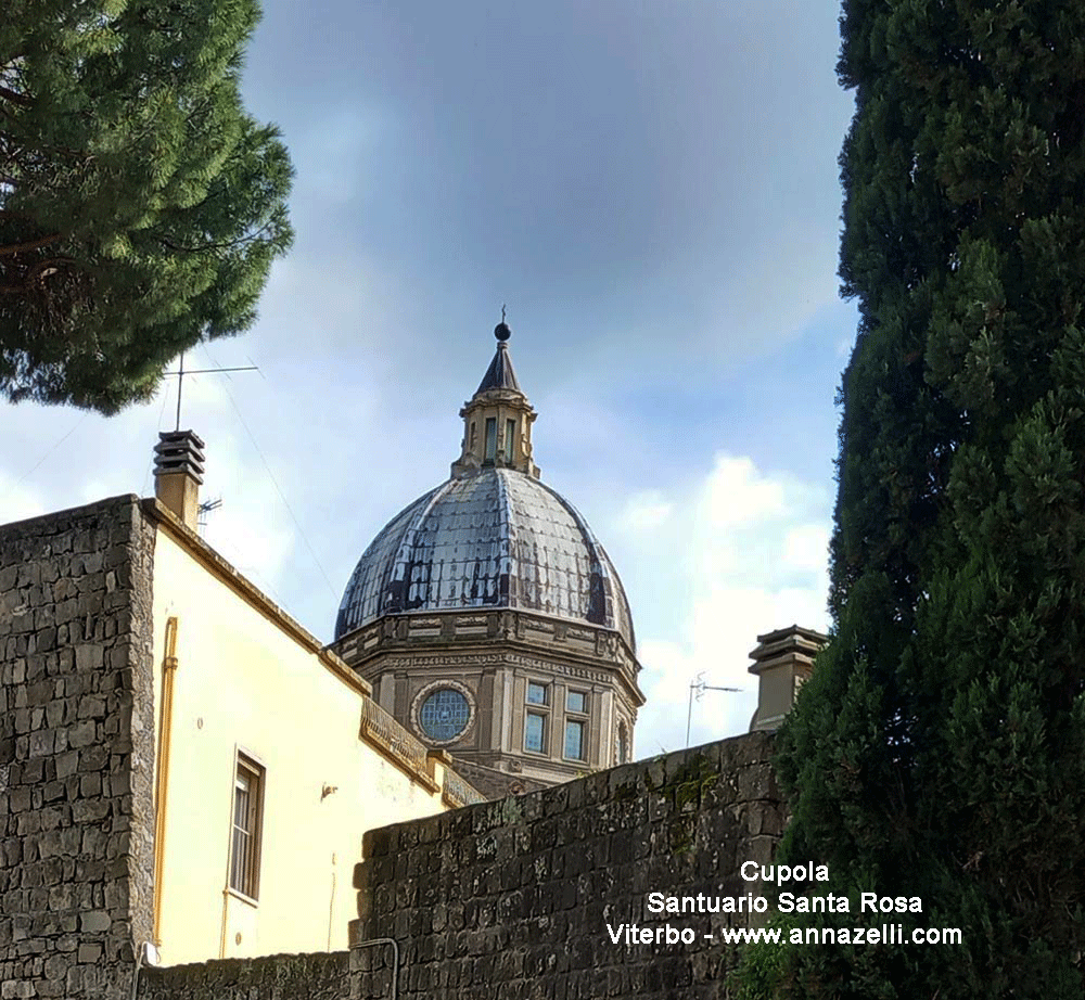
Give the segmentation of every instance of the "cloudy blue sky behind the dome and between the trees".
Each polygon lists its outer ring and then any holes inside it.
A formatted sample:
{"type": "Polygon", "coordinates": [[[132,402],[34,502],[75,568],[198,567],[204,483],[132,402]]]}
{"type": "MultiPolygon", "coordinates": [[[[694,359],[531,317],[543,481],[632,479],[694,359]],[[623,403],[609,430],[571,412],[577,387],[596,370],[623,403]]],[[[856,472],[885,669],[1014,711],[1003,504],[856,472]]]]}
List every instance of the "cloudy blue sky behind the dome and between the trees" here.
{"type": "MultiPolygon", "coordinates": [[[[206,538],[331,638],[373,535],[448,475],[508,305],[546,482],[629,593],[637,754],[744,731],[758,632],[825,615],[840,371],[838,8],[266,0],[250,110],[297,240],[190,367],[206,538]]],[[[153,489],[176,388],[104,420],[0,405],[0,521],[153,489]]]]}

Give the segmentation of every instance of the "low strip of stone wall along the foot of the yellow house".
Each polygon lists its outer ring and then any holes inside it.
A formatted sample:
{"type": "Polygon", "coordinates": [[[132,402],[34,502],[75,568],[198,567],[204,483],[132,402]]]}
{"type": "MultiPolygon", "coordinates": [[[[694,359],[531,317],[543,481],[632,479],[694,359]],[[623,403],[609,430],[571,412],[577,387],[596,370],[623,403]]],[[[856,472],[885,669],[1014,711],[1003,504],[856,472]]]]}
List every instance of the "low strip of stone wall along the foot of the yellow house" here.
{"type": "MultiPolygon", "coordinates": [[[[348,954],[277,954],[142,969],[138,1000],[347,1000],[348,954]]],[[[126,998],[127,1000],[127,998],[126,998]]]]}

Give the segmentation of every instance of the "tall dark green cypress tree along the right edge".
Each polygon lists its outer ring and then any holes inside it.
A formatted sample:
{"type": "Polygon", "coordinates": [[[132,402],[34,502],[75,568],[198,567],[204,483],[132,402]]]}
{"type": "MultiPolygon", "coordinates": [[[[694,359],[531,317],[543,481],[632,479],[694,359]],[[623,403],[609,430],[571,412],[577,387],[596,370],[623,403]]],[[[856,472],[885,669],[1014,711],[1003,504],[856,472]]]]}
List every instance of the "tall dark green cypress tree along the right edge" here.
{"type": "MultiPolygon", "coordinates": [[[[795,948],[789,997],[1085,992],[1085,4],[845,0],[834,636],[784,858],[959,946],[795,948]]],[[[893,922],[901,918],[894,915],[893,922]]]]}

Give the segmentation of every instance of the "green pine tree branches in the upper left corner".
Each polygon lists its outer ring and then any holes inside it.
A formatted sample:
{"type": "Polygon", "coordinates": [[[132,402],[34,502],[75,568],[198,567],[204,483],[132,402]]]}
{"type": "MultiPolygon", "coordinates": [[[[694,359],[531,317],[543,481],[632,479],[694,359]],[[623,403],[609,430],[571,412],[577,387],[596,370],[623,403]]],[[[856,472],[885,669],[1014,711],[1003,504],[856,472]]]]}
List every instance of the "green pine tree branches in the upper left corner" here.
{"type": "Polygon", "coordinates": [[[9,0],[0,393],[104,413],[255,318],[291,166],[239,93],[256,0],[9,0]]]}

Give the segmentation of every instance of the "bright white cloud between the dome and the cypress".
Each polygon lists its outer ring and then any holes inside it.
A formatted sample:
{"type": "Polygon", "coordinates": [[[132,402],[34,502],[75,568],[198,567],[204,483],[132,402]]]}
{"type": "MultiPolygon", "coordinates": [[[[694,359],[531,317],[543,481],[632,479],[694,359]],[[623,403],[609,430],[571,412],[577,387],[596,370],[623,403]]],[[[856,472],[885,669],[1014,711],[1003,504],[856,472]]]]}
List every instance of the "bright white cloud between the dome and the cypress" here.
{"type": "Polygon", "coordinates": [[[756,637],[791,624],[828,627],[829,523],[825,489],[727,453],[691,485],[627,502],[618,528],[623,565],[634,570],[627,585],[642,623],[648,697],[637,725],[638,756],[686,745],[690,683],[702,674],[710,687],[743,690],[705,690],[694,700],[690,742],[749,728],[757,701],[748,672],[756,637]],[[644,530],[644,512],[664,509],[666,520],[644,530]],[[646,599],[650,606],[639,606],[646,599]],[[677,634],[664,634],[661,626],[677,627],[677,634]]]}

